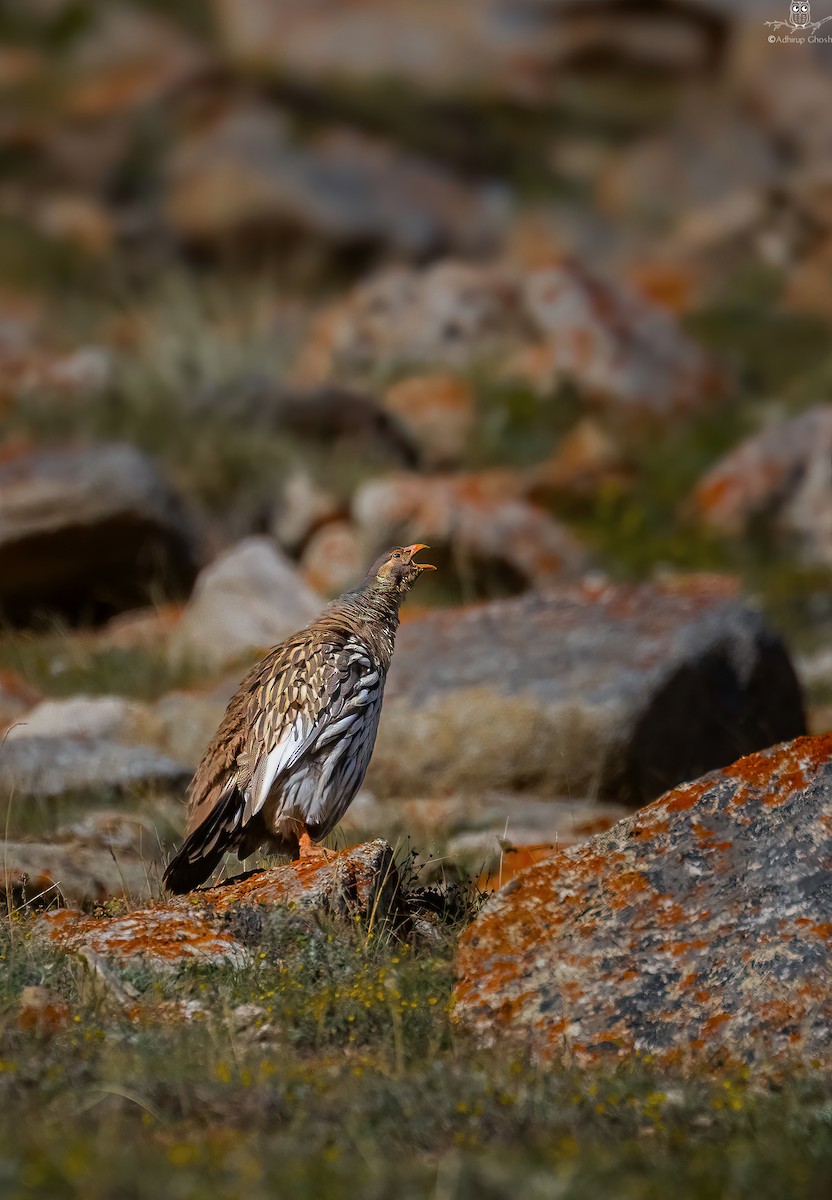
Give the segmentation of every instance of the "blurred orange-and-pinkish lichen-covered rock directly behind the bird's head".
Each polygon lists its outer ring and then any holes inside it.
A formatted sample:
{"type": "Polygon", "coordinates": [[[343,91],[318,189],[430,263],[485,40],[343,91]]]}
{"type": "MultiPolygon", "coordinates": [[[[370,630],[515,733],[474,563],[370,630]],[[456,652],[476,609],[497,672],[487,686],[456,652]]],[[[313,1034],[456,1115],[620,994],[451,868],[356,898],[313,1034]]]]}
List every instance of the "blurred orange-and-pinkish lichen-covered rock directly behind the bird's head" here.
{"type": "Polygon", "coordinates": [[[574,577],[587,565],[586,551],[523,498],[526,486],[505,470],[391,475],[358,490],[353,516],[370,554],[424,540],[468,583],[487,587],[493,576],[517,592],[574,577]]]}

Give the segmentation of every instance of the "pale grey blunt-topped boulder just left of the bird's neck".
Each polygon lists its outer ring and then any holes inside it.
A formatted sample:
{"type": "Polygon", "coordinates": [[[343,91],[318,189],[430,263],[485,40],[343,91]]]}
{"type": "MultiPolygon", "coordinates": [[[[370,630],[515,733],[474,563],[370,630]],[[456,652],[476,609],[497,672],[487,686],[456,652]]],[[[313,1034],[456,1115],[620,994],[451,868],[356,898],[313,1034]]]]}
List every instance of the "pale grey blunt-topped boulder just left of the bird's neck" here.
{"type": "Polygon", "coordinates": [[[246,538],[199,575],[170,654],[215,667],[267,649],[301,629],[321,601],[268,538],[246,538]]]}

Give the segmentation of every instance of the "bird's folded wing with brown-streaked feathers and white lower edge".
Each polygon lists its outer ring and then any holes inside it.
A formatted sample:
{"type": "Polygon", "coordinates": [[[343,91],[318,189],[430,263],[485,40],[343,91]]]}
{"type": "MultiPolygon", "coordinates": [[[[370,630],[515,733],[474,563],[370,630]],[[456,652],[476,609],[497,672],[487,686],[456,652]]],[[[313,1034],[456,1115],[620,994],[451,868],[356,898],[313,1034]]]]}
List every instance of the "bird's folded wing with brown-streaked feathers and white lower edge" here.
{"type": "Polygon", "coordinates": [[[299,640],[285,649],[262,672],[250,700],[243,756],[251,785],[244,824],[261,811],[282,775],[347,733],[379,684],[366,648],[354,640],[299,640]]]}

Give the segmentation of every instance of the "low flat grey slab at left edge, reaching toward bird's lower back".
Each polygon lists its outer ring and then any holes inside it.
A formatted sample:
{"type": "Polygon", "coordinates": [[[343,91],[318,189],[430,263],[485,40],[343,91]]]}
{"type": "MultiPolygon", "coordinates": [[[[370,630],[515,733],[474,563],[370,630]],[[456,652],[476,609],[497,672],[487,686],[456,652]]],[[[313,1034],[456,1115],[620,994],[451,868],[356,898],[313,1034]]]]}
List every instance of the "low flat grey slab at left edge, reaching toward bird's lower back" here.
{"type": "Polygon", "coordinates": [[[85,792],[179,787],[190,778],[181,763],[150,746],[103,738],[12,738],[0,746],[0,797],[23,802],[85,792]]]}

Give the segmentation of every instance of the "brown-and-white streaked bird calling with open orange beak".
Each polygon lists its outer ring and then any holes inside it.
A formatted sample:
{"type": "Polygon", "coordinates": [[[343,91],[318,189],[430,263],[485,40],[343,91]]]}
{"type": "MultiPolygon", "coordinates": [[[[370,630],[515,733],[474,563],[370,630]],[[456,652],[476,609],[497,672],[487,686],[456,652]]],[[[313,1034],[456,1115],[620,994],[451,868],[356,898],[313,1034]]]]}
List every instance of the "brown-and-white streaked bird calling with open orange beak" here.
{"type": "Polygon", "coordinates": [[[162,881],[191,892],[223,854],[309,857],[349,808],[372,756],[399,608],[430,563],[421,542],[378,558],[363,582],[249,672],[188,787],[185,840],[162,881]]]}

